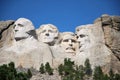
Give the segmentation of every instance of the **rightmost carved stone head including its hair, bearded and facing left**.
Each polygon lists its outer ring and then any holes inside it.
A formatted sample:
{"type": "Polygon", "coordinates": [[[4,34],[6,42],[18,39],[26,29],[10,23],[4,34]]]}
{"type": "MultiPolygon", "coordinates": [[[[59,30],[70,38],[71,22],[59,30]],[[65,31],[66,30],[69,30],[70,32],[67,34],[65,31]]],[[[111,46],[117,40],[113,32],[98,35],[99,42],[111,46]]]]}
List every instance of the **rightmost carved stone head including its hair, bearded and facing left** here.
{"type": "MultiPolygon", "coordinates": [[[[87,26],[92,26],[92,24],[87,26]]],[[[91,29],[86,28],[85,25],[76,28],[77,41],[79,42],[80,52],[90,48],[90,44],[93,42],[93,36],[90,31],[91,29]]]]}

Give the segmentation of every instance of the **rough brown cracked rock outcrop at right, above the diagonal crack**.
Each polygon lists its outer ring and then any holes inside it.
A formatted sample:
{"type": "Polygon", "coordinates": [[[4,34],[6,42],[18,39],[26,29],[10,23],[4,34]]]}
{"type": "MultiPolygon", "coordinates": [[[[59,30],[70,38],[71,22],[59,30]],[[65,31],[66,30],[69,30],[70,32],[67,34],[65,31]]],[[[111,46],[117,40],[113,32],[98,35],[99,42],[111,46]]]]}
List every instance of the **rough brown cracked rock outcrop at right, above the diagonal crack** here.
{"type": "MultiPolygon", "coordinates": [[[[102,15],[100,20],[103,31],[105,44],[112,50],[120,60],[120,16],[102,15]]],[[[95,21],[95,23],[97,23],[95,21]]]]}

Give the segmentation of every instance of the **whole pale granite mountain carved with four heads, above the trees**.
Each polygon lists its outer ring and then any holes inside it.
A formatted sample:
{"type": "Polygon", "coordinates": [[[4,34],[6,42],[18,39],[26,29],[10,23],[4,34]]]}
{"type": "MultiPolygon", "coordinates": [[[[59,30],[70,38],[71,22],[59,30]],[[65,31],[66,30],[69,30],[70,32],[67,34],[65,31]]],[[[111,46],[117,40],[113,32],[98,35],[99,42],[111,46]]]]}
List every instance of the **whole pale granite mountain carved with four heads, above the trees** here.
{"type": "Polygon", "coordinates": [[[26,18],[0,22],[0,65],[35,68],[49,62],[53,68],[70,58],[76,65],[90,60],[92,68],[120,72],[120,16],[102,15],[93,24],[77,26],[75,33],[59,32],[53,24],[38,29],[26,18]]]}

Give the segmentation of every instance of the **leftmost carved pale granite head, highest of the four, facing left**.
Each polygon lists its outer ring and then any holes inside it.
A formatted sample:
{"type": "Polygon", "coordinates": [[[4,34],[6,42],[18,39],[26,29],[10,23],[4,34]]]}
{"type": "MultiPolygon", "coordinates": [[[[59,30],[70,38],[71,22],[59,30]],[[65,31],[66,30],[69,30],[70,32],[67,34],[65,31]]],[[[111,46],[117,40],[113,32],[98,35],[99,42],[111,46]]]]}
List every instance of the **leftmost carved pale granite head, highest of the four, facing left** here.
{"type": "Polygon", "coordinates": [[[14,25],[15,25],[14,32],[15,32],[16,40],[21,40],[29,37],[30,35],[28,32],[30,30],[34,30],[34,26],[32,25],[32,22],[25,18],[19,18],[14,25]]]}

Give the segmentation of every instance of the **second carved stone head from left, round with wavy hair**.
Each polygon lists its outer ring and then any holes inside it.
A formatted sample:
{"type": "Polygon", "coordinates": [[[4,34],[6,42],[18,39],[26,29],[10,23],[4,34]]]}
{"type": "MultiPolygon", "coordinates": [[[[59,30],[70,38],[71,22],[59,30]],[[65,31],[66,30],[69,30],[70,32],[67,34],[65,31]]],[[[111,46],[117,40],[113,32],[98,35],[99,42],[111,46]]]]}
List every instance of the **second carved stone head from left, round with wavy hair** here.
{"type": "Polygon", "coordinates": [[[41,25],[37,30],[39,41],[49,45],[54,45],[55,40],[58,38],[58,33],[57,27],[52,24],[41,25]]]}

